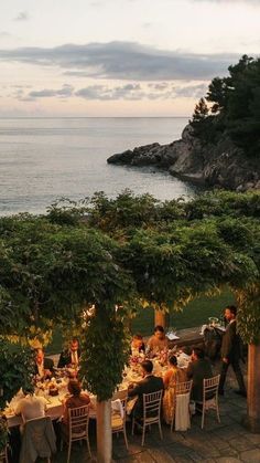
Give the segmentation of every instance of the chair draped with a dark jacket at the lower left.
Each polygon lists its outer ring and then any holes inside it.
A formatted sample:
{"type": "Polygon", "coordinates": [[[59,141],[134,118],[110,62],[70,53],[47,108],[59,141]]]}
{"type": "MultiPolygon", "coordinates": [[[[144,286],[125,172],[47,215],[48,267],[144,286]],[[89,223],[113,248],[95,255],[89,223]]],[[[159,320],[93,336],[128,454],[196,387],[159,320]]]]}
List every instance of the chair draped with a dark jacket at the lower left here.
{"type": "Polygon", "coordinates": [[[20,463],[35,461],[37,456],[51,463],[51,456],[56,452],[56,435],[51,417],[28,420],[22,429],[22,446],[20,463]]]}

